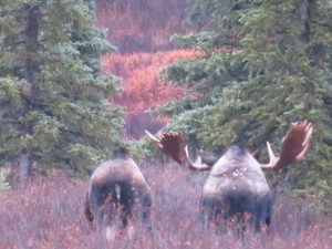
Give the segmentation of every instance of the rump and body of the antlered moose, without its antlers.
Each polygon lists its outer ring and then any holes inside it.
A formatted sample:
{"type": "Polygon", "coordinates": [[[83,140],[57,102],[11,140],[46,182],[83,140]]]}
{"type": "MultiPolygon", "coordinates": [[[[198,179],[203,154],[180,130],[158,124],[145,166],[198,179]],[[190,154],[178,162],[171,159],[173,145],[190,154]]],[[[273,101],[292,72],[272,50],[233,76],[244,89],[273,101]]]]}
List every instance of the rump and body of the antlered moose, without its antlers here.
{"type": "Polygon", "coordinates": [[[269,185],[252,155],[245,148],[231,146],[217,160],[207,178],[200,201],[204,224],[221,225],[231,217],[245,220],[250,214],[255,230],[271,221],[272,199],[269,185]]]}

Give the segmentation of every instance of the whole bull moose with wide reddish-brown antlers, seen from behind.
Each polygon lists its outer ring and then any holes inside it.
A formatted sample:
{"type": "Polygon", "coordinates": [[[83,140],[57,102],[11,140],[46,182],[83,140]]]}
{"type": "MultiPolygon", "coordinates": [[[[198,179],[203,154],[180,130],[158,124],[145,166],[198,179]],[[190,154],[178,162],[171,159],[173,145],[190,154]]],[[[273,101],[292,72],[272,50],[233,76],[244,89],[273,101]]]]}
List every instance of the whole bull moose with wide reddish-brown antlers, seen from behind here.
{"type": "Polygon", "coordinates": [[[260,231],[262,222],[270,225],[272,212],[271,191],[263,172],[278,172],[301,160],[308,151],[312,124],[307,121],[292,123],[282,139],[279,157],[267,142],[269,164],[260,164],[246,148],[237,145],[212,162],[211,157],[206,160],[204,156],[191,162],[180,133],[164,133],[157,137],[145,132],[157,148],[179,165],[194,170],[210,170],[200,201],[206,225],[215,221],[220,227],[222,221],[232,218],[243,221],[250,215],[255,231],[260,231]]]}

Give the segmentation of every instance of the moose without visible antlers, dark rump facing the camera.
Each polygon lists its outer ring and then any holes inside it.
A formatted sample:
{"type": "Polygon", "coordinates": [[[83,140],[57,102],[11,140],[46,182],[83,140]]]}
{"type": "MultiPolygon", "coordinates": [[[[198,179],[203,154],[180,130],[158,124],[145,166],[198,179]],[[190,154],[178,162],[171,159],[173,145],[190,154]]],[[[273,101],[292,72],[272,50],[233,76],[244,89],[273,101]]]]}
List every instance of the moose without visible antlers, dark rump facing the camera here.
{"type": "Polygon", "coordinates": [[[112,228],[111,236],[114,236],[116,228],[126,229],[131,220],[141,219],[152,235],[151,208],[151,188],[139,167],[126,148],[115,148],[112,158],[102,163],[91,176],[85,197],[90,225],[98,230],[112,228]]]}

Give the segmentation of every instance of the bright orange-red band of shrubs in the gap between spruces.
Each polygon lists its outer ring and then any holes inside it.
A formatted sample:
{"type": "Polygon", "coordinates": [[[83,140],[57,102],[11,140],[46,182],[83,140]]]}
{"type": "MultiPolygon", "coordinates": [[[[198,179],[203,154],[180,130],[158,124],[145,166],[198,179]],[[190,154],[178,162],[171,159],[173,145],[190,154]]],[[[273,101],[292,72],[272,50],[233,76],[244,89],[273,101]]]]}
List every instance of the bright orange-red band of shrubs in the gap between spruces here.
{"type": "Polygon", "coordinates": [[[131,115],[178,100],[184,89],[163,84],[158,72],[176,60],[195,56],[196,52],[189,50],[108,54],[103,58],[103,70],[123,77],[124,92],[114,101],[126,106],[131,115]]]}

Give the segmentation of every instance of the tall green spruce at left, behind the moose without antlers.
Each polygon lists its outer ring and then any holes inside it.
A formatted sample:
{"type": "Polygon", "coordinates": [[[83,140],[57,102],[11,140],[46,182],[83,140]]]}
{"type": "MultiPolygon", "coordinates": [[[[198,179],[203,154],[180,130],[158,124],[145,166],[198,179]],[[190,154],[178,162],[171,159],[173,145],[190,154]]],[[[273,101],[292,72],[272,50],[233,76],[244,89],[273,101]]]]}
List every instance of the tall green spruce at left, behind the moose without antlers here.
{"type": "Polygon", "coordinates": [[[0,164],[83,170],[117,142],[123,110],[101,73],[114,50],[92,0],[0,1],[0,164]]]}

